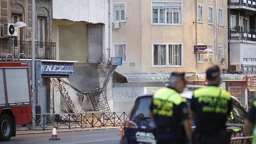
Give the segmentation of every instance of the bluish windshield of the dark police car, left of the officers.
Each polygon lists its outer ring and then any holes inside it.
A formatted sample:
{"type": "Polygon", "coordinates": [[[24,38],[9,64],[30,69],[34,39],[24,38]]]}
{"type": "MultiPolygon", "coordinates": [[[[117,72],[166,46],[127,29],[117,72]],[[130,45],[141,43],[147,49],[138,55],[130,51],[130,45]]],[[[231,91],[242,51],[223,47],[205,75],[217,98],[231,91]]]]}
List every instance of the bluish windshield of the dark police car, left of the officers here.
{"type": "Polygon", "coordinates": [[[147,119],[149,118],[149,106],[151,104],[152,97],[142,97],[137,99],[133,110],[131,112],[131,118],[147,119]]]}

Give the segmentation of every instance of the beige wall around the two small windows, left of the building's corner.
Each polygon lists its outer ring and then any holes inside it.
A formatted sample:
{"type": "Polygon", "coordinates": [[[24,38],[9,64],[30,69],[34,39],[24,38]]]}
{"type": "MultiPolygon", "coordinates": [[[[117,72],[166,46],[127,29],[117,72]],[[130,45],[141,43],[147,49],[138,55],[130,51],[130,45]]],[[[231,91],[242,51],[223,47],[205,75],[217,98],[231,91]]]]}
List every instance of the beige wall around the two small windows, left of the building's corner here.
{"type": "MultiPolygon", "coordinates": [[[[112,2],[124,2],[123,0],[112,0],[112,2]]],[[[126,22],[120,23],[120,28],[112,30],[112,43],[126,43],[127,62],[123,66],[118,66],[120,73],[139,73],[142,71],[142,41],[141,41],[141,1],[126,1],[126,22]],[[130,66],[130,62],[135,62],[135,66],[130,66]],[[128,68],[128,69],[127,69],[128,68]]],[[[114,48],[112,46],[112,48],[114,48]]]]}

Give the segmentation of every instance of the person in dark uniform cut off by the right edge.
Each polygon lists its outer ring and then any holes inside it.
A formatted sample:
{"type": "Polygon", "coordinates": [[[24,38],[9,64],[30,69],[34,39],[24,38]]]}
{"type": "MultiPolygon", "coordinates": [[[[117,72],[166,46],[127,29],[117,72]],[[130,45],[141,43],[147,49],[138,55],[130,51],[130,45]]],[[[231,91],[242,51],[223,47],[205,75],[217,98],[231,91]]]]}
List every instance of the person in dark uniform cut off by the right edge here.
{"type": "Polygon", "coordinates": [[[252,144],[256,144],[256,100],[254,100],[253,106],[251,107],[247,119],[245,120],[244,134],[253,134],[252,144]]]}

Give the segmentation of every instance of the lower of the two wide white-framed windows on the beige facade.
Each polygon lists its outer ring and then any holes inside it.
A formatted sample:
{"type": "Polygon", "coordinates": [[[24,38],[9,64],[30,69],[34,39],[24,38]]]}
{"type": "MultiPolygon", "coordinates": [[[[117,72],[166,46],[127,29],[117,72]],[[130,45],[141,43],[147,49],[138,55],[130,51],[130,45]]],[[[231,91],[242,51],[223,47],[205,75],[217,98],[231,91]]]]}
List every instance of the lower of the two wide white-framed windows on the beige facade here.
{"type": "Polygon", "coordinates": [[[153,44],[154,66],[183,66],[182,44],[153,44]]]}

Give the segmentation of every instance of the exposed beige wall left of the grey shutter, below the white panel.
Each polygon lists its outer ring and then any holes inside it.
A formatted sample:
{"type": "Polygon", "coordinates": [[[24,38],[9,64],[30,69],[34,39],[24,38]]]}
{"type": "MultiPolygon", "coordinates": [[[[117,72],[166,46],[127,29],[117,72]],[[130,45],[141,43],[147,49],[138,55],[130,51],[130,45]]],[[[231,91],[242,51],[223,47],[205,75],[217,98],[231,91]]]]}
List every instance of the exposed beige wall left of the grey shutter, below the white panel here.
{"type": "Polygon", "coordinates": [[[53,39],[57,43],[59,60],[87,62],[86,22],[53,20],[53,39]]]}

